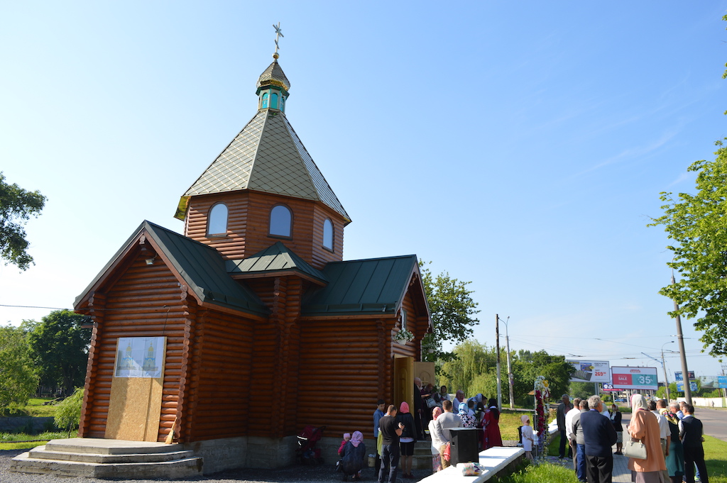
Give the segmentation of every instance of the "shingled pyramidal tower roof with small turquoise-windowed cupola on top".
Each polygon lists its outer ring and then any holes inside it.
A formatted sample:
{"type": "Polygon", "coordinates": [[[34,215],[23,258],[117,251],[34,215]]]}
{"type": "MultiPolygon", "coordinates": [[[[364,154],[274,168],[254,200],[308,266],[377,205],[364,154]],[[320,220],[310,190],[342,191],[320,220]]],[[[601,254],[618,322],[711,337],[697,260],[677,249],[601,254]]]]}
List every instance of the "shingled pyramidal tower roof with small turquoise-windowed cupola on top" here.
{"type": "Polygon", "coordinates": [[[350,218],[285,115],[290,82],[274,60],[257,81],[258,111],[182,196],[236,190],[321,201],[350,218]],[[279,101],[278,101],[279,99],[279,101]]]}

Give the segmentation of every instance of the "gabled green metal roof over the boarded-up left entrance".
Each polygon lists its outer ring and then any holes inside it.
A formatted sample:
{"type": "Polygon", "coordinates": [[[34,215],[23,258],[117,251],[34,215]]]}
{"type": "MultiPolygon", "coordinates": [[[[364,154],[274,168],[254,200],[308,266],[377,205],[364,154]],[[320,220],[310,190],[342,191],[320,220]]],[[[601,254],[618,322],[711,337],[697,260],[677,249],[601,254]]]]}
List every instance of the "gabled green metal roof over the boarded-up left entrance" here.
{"type": "Polygon", "coordinates": [[[166,259],[185,280],[190,291],[193,291],[202,303],[258,315],[270,313],[268,307],[265,307],[253,291],[228,275],[225,260],[217,250],[147,221],[134,231],[93,282],[76,298],[74,307],[79,306],[87,293],[107,275],[108,269],[116,263],[129,244],[134,243],[144,231],[156,242],[159,250],[164,253],[166,259]]]}

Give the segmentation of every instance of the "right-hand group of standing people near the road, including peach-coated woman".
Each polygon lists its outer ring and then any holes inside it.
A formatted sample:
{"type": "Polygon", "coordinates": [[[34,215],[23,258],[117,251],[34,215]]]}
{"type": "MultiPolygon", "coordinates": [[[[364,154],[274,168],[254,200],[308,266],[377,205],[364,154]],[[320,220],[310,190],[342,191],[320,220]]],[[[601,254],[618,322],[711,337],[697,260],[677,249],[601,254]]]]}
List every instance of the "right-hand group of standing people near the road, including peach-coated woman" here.
{"type": "Polygon", "coordinates": [[[694,483],[697,477],[709,483],[703,426],[694,417],[694,406],[686,402],[667,405],[664,399],[648,401],[643,394],[633,394],[631,419],[624,431],[622,414],[615,404],[606,411],[598,396],[575,398],[573,405],[568,394],[562,399],[556,411],[558,431],[562,431],[559,456],[566,457],[567,442],[579,482],[610,483],[616,454],[630,457],[632,482],[694,483]],[[614,445],[616,451],[612,453],[614,445]],[[630,453],[634,445],[643,445],[644,458],[640,458],[643,453],[630,453]]]}

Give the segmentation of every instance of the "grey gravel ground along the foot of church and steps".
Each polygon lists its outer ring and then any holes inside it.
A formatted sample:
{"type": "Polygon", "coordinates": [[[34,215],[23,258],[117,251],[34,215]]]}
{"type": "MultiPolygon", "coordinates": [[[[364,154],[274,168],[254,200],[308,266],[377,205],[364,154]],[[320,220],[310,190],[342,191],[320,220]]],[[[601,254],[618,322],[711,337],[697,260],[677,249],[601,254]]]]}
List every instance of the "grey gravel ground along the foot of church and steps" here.
{"type": "MultiPolygon", "coordinates": [[[[9,471],[10,460],[20,455],[25,450],[0,450],[0,483],[108,483],[107,479],[97,478],[81,478],[69,476],[55,476],[52,474],[23,474],[9,471]]],[[[398,474],[399,481],[418,482],[419,479],[429,476],[430,472],[425,470],[413,471],[414,479],[402,480],[401,473],[398,474]]],[[[340,482],[342,474],[337,473],[332,465],[321,466],[288,466],[279,469],[257,469],[246,468],[230,471],[222,471],[221,473],[209,476],[201,476],[193,479],[175,480],[180,483],[184,482],[210,482],[210,483],[312,483],[312,482],[340,482]]],[[[158,483],[158,479],[126,479],[127,483],[158,483]]],[[[350,482],[351,479],[349,478],[350,482]]],[[[374,477],[374,468],[364,469],[361,475],[361,481],[376,482],[374,477]]]]}

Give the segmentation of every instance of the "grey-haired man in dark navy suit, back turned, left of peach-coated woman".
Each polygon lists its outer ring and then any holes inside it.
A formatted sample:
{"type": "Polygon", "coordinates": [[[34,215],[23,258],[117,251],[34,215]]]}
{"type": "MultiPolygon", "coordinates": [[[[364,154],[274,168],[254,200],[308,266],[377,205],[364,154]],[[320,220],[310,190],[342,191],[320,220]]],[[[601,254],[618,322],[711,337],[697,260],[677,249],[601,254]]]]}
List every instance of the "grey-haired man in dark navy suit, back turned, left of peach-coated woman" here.
{"type": "Polygon", "coordinates": [[[616,429],[611,420],[601,414],[602,410],[601,398],[591,396],[588,398],[588,410],[580,415],[588,483],[611,483],[611,474],[614,471],[611,446],[616,443],[616,429]]]}

